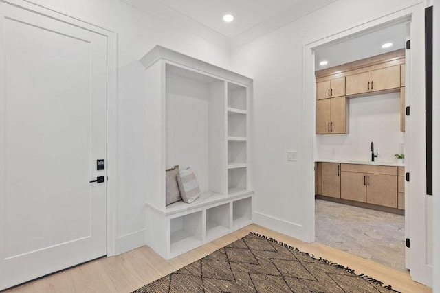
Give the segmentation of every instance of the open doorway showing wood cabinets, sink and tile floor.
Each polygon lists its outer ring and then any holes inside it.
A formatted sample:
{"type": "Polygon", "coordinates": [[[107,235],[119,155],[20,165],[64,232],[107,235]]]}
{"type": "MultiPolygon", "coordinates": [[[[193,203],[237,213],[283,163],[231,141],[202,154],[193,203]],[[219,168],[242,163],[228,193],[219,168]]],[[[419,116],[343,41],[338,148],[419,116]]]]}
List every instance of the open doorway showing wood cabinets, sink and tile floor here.
{"type": "Polygon", "coordinates": [[[409,36],[400,21],[314,49],[315,240],[402,271],[409,36]]]}

